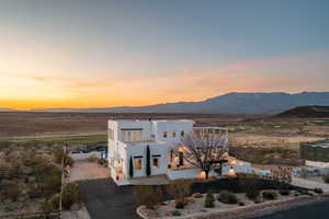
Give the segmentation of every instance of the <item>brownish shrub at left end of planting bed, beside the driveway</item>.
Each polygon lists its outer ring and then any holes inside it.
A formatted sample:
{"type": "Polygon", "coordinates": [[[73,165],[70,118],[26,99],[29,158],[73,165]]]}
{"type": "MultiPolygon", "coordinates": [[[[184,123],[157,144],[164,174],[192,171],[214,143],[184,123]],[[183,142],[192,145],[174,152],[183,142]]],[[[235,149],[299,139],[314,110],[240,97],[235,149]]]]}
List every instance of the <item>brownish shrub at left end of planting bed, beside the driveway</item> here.
{"type": "Polygon", "coordinates": [[[162,200],[162,189],[159,186],[134,186],[134,194],[138,205],[145,205],[148,209],[155,209],[162,200]]]}

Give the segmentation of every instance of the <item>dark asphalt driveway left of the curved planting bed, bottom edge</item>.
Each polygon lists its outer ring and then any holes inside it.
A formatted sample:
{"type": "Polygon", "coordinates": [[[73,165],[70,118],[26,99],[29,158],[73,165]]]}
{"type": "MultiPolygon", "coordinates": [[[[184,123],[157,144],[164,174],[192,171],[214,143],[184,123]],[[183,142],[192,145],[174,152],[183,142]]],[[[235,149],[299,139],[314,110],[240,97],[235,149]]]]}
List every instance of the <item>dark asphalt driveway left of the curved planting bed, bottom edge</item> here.
{"type": "Polygon", "coordinates": [[[109,178],[81,183],[82,198],[92,219],[137,219],[131,186],[116,186],[109,178]]]}

